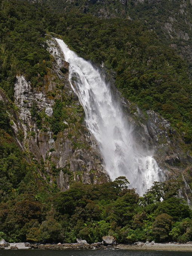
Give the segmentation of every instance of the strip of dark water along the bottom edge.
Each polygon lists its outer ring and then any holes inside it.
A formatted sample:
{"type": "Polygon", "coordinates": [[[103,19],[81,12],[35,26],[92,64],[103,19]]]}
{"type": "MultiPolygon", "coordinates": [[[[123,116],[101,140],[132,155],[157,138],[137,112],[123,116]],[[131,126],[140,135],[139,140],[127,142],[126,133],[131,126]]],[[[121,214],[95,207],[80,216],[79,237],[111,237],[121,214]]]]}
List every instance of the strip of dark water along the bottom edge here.
{"type": "Polygon", "coordinates": [[[191,251],[142,250],[1,250],[0,256],[191,256],[191,251]]]}

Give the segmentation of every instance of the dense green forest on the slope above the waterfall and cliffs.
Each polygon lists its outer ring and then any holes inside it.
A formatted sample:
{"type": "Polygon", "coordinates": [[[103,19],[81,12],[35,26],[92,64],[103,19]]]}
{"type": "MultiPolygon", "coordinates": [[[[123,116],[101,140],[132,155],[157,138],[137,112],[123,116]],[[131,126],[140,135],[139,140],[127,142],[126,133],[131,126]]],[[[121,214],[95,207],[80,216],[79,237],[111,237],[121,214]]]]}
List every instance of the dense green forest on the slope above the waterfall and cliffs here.
{"type": "Polygon", "coordinates": [[[55,14],[41,3],[25,3],[20,11],[12,1],[2,1],[2,5],[1,87],[10,98],[17,72],[24,73],[34,86],[41,85],[51,64],[49,54],[40,46],[44,35],[54,32],[85,59],[104,62],[108,72],[115,72],[116,86],[125,98],[144,110],[157,111],[191,142],[188,65],[162,44],[154,31],[123,18],[99,19],[76,10],[55,14]]]}

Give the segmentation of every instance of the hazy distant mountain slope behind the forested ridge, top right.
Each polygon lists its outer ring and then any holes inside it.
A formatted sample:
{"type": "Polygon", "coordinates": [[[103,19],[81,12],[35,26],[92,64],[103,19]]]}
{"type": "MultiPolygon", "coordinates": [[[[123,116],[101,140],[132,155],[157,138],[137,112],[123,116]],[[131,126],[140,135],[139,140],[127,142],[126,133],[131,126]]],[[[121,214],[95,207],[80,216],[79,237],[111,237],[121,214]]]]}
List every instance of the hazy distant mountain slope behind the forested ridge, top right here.
{"type": "Polygon", "coordinates": [[[190,0],[180,1],[66,1],[43,0],[61,14],[69,14],[71,10],[91,14],[99,18],[125,18],[140,21],[148,29],[153,30],[159,40],[172,47],[188,62],[188,75],[192,66],[192,3],[190,0]]]}

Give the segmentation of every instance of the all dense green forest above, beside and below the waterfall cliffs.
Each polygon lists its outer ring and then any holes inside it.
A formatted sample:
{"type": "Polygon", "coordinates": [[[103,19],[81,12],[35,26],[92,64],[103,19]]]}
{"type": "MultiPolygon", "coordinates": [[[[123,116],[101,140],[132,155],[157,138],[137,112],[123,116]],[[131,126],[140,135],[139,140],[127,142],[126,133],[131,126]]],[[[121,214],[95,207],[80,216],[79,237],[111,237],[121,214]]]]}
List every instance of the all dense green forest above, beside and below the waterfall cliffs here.
{"type": "MultiPolygon", "coordinates": [[[[0,0],[0,89],[8,99],[0,101],[0,239],[45,243],[75,242],[81,237],[96,242],[113,235],[123,243],[190,241],[192,211],[178,198],[181,180],[155,182],[142,197],[136,189],[128,189],[125,177],[105,184],[71,182],[70,189],[61,192],[56,183],[42,181],[38,163],[30,162],[28,152],[16,143],[10,120],[18,111],[16,76],[24,74],[32,88],[43,86],[53,61],[46,50],[46,34],[51,34],[85,59],[103,65],[122,96],[143,111],[154,110],[168,119],[188,154],[192,150],[189,61],[140,19],[130,20],[126,14],[96,17],[91,9],[58,12],[49,4],[0,0]]],[[[49,122],[56,136],[66,128],[59,116],[63,103],[56,101],[53,110],[49,122]]],[[[37,114],[35,105],[30,112],[43,130],[43,114],[37,114]]],[[[23,140],[22,133],[18,139],[23,140]]],[[[77,148],[79,144],[74,143],[77,148]]],[[[58,171],[53,163],[52,169],[58,171]]]]}

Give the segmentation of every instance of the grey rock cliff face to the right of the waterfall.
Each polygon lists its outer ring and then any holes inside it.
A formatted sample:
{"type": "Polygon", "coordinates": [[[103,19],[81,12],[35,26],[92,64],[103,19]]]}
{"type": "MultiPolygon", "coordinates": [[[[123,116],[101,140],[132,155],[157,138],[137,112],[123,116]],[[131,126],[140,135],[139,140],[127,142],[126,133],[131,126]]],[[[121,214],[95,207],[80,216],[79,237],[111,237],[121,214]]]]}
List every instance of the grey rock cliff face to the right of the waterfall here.
{"type": "Polygon", "coordinates": [[[182,134],[178,134],[168,120],[154,111],[141,111],[136,105],[121,98],[128,120],[134,125],[136,142],[153,152],[165,180],[176,179],[183,183],[180,196],[191,204],[192,155],[182,134]]]}

